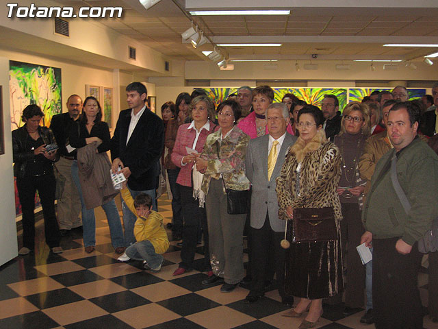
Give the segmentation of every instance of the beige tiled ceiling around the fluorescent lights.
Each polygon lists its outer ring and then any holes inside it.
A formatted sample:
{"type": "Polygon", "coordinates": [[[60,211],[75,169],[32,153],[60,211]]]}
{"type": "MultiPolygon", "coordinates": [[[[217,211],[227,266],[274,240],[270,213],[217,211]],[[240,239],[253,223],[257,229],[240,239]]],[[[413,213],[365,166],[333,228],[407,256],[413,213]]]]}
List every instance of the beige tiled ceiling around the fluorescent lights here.
{"type": "Polygon", "coordinates": [[[433,5],[434,0],[365,1],[370,3],[369,7],[363,5],[364,1],[337,0],[331,1],[336,7],[330,8],[318,0],[162,0],[147,11],[138,0],[57,2],[75,8],[122,6],[122,18],[103,19],[101,23],[177,60],[207,60],[201,51],[213,49],[209,43],[194,49],[182,42],[181,33],[191,26],[186,5],[207,10],[218,8],[218,3],[224,6],[238,3],[242,9],[271,9],[268,5],[272,4],[278,9],[292,10],[289,16],[192,16],[215,43],[283,43],[282,47],[226,47],[224,53],[231,60],[305,60],[313,53],[320,60],[413,60],[438,50],[383,47],[388,42],[438,43],[438,8],[436,1],[433,5]],[[284,5],[287,2],[297,5],[284,5]],[[255,3],[257,7],[250,7],[255,3]]]}

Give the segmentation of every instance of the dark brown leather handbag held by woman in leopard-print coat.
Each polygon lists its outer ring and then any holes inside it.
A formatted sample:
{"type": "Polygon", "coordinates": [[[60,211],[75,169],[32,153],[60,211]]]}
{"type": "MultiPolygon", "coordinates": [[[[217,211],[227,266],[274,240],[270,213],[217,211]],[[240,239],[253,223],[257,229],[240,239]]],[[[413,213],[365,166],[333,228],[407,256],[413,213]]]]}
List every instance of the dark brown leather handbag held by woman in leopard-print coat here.
{"type": "Polygon", "coordinates": [[[292,243],[337,240],[335,212],[332,207],[296,208],[292,222],[292,243]]]}

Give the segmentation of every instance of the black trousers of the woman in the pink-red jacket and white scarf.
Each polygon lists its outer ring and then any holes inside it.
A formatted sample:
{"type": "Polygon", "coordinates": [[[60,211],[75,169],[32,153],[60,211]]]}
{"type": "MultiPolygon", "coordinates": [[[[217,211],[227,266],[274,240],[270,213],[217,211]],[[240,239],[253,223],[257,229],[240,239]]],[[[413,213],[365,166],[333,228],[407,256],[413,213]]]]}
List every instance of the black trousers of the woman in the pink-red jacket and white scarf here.
{"type": "Polygon", "coordinates": [[[183,213],[183,245],[181,247],[181,263],[179,267],[193,269],[194,254],[196,253],[196,243],[198,242],[198,230],[201,225],[204,235],[204,263],[201,271],[211,270],[208,226],[205,208],[199,207],[199,200],[193,197],[193,188],[177,184],[181,195],[181,206],[183,213]]]}

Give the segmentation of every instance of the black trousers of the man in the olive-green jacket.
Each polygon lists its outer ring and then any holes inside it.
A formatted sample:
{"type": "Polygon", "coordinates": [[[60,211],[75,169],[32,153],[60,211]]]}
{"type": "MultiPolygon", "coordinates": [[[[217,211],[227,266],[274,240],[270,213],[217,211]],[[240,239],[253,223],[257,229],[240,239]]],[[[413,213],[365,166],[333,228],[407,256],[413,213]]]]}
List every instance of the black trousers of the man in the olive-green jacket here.
{"type": "Polygon", "coordinates": [[[423,316],[417,287],[422,254],[417,243],[399,254],[399,238],[373,239],[372,302],[376,329],[422,329],[423,316]]]}

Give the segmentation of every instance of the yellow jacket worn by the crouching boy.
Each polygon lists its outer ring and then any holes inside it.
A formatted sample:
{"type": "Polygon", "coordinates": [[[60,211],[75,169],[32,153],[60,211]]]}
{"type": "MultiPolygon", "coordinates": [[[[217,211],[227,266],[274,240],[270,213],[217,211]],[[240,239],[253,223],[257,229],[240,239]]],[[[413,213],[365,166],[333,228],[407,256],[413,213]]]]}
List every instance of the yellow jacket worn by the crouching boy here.
{"type": "Polygon", "coordinates": [[[170,243],[167,237],[166,230],[163,226],[163,216],[159,215],[158,212],[152,210],[151,214],[147,218],[139,217],[134,208],[134,200],[129,193],[128,188],[123,188],[122,197],[125,200],[125,204],[128,206],[129,210],[136,215],[136,225],[134,226],[134,235],[137,241],[151,241],[155,252],[157,254],[164,254],[170,243]]]}

